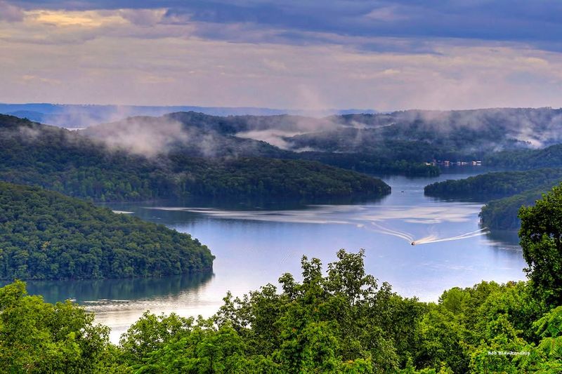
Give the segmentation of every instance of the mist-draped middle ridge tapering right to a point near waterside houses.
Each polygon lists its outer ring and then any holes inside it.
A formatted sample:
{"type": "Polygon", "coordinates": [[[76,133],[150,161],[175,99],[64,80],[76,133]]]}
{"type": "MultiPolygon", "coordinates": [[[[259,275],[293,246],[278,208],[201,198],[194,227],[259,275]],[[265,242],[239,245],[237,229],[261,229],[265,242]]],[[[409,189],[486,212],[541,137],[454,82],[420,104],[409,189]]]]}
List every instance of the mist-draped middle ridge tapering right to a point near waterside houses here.
{"type": "MultiPolygon", "coordinates": [[[[304,116],[209,116],[196,112],[178,112],[164,116],[136,116],[83,131],[91,138],[103,139],[150,152],[146,144],[164,142],[170,152],[198,157],[252,156],[278,159],[318,161],[330,166],[360,173],[438,175],[438,168],[421,161],[405,161],[389,154],[361,152],[294,152],[287,147],[285,136],[294,133],[329,130],[340,126],[327,119],[304,116]],[[138,147],[138,139],[146,138],[138,147]],[[277,145],[278,147],[276,147],[277,145]]],[[[348,126],[348,125],[344,125],[348,126]]],[[[351,128],[351,130],[354,130],[351,128]]],[[[405,146],[407,147],[407,145],[405,146]]],[[[398,149],[398,147],[395,147],[398,149]]],[[[301,151],[301,150],[299,150],[301,151]]],[[[408,152],[410,152],[408,150],[408,152]]],[[[419,154],[417,155],[419,159],[419,154]]],[[[411,157],[410,157],[411,159],[411,157]]],[[[431,157],[430,157],[431,159],[431,157]]]]}

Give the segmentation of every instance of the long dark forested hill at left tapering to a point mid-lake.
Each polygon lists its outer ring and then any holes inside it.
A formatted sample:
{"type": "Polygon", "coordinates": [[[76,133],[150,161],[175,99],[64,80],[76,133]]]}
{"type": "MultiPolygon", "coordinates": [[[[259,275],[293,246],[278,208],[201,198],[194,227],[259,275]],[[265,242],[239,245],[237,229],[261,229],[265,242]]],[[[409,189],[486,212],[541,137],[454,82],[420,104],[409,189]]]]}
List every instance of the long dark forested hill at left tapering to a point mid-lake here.
{"type": "MultiPolygon", "coordinates": [[[[145,143],[140,146],[143,149],[145,143]]],[[[145,156],[138,149],[77,132],[0,116],[0,180],[70,196],[130,201],[187,196],[325,199],[390,193],[379,179],[318,162],[199,158],[168,150],[161,153],[152,147],[145,156]]]]}

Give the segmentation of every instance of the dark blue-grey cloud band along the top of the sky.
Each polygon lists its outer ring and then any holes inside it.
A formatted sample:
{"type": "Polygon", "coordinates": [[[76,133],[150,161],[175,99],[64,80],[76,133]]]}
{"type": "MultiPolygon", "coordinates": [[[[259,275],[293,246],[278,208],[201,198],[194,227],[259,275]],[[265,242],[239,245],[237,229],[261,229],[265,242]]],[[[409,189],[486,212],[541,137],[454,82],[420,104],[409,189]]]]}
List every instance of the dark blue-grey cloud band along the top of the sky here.
{"type": "MultiPolygon", "coordinates": [[[[558,0],[458,1],[429,0],[214,0],[214,1],[33,1],[20,0],[30,9],[91,11],[165,8],[162,22],[202,25],[252,25],[268,34],[284,30],[286,43],[298,42],[309,33],[362,37],[455,38],[487,41],[516,41],[535,48],[561,48],[562,3],[558,0]],[[550,46],[549,46],[550,45],[550,46]]],[[[155,22],[150,14],[136,20],[155,22]]],[[[149,22],[149,23],[150,23],[149,22]]],[[[238,34],[218,34],[224,40],[240,40],[238,34]]]]}

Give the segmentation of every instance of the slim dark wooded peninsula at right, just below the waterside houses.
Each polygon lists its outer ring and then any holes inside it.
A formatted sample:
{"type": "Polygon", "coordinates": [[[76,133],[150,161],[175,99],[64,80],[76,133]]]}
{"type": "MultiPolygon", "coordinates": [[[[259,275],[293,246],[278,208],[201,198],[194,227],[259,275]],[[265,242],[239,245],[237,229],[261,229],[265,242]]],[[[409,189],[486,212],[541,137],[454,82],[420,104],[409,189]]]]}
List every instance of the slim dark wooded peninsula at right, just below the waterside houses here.
{"type": "MultiPolygon", "coordinates": [[[[461,180],[445,180],[424,187],[424,194],[446,198],[489,201],[562,181],[562,168],[485,173],[461,180]]],[[[545,190],[546,191],[546,190],[545,190]]]]}

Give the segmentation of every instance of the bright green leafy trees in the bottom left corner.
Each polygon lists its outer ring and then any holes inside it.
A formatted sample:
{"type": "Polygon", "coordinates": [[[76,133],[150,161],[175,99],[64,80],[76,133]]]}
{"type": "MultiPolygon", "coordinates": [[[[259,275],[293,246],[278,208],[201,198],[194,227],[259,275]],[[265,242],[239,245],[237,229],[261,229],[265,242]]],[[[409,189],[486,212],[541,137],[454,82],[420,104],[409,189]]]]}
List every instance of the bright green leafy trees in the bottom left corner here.
{"type": "Polygon", "coordinates": [[[71,302],[29,296],[20,281],[0,288],[0,371],[3,373],[117,372],[109,328],[71,302]]]}

